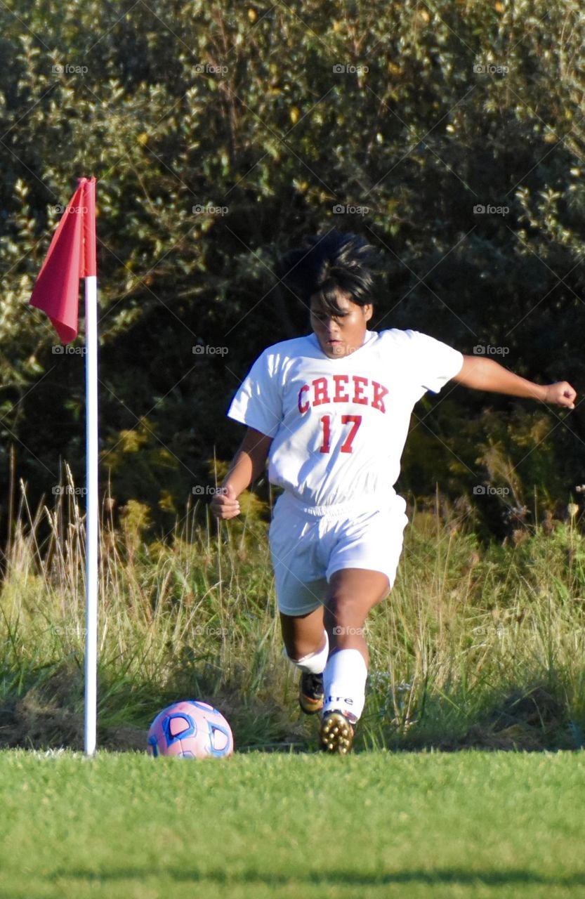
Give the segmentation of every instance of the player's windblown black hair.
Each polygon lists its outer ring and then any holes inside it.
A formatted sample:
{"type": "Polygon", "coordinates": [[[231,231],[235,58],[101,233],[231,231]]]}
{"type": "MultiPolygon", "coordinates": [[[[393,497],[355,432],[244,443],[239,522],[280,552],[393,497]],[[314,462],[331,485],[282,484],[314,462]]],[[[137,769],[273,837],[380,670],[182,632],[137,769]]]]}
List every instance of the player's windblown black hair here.
{"type": "Polygon", "coordinates": [[[306,307],[316,297],[330,316],[343,316],[337,305],[340,290],[358,306],[374,302],[377,264],[377,250],[365,237],[333,228],[324,235],[305,237],[298,249],[284,254],[277,274],[306,307]]]}

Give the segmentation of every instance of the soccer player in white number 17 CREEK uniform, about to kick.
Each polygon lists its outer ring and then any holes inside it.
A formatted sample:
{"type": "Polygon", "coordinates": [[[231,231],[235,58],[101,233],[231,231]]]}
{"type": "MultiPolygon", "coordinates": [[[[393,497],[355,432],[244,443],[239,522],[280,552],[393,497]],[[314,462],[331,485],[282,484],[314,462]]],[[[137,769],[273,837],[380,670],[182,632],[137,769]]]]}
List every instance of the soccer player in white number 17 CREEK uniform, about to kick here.
{"type": "Polygon", "coordinates": [[[364,707],[363,628],[402,550],[406,503],[394,483],[414,404],[450,380],[569,409],[576,396],[566,381],[538,385],[427,334],[368,330],[374,263],[366,240],[337,230],[280,260],[313,333],[253,363],[228,411],[246,425],[244,441],[211,503],[218,519],[234,518],[269,458],[283,489],[269,530],[282,636],[326,752],[350,751],[364,707]]]}

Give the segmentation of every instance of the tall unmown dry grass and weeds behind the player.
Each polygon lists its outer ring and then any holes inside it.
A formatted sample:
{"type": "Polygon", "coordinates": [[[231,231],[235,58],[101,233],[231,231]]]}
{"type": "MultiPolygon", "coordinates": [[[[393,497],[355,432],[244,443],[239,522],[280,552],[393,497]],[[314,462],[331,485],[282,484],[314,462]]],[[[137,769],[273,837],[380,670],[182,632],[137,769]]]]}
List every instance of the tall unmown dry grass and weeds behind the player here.
{"type": "MultiPolygon", "coordinates": [[[[71,491],[75,488],[69,476],[71,491]]],[[[99,722],[140,745],[165,703],[208,699],[244,747],[315,747],[281,656],[266,516],[251,496],[219,526],[188,507],[165,539],[129,503],[102,510],[99,722]],[[203,520],[204,519],[204,520],[203,520]],[[134,728],[134,730],[133,730],[134,728]]],[[[574,510],[573,510],[574,512],[574,510]]],[[[368,619],[362,746],[581,746],[585,539],[577,516],[480,544],[465,521],[412,512],[391,597],[368,619]]],[[[0,592],[0,741],[78,745],[84,510],[21,500],[0,592]]]]}

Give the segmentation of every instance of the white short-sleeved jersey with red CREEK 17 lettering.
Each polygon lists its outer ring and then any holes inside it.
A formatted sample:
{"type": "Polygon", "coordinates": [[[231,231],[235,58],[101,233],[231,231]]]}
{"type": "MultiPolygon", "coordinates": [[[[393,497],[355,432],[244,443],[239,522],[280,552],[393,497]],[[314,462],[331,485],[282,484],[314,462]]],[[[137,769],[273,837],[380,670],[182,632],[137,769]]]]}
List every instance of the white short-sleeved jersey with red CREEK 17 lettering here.
{"type": "Polygon", "coordinates": [[[273,438],[270,482],[307,506],[386,506],[413,405],[462,365],[458,350],[418,331],[368,331],[339,359],[310,334],[264,350],[227,414],[273,438]]]}

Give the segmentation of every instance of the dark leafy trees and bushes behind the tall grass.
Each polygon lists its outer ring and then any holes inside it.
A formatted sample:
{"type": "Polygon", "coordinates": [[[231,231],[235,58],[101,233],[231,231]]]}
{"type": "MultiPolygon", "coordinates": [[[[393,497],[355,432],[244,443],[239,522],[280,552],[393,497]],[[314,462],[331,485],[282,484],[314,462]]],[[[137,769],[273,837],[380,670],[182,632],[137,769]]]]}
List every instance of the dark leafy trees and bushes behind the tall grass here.
{"type": "MultiPolygon", "coordinates": [[[[275,277],[308,233],[379,248],[378,329],[498,348],[581,400],[579,4],[9,0],[0,18],[4,534],[11,454],[31,506],[64,460],[84,483],[83,356],[28,306],[80,175],[98,179],[102,488],[159,528],[233,454],[252,360],[308,329],[275,277]]],[[[415,410],[399,487],[439,485],[502,533],[565,513],[584,446],[580,407],[449,386],[415,410]]]]}

